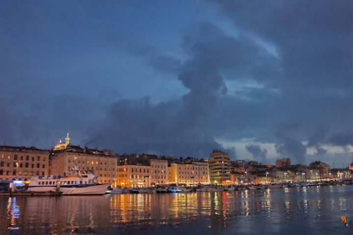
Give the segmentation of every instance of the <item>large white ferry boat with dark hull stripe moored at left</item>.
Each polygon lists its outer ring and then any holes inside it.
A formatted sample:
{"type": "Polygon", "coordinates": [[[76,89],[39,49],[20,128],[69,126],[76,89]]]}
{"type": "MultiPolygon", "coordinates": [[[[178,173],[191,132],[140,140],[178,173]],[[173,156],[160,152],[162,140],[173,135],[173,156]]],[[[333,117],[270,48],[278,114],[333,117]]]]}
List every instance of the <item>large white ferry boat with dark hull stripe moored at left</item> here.
{"type": "Polygon", "coordinates": [[[111,186],[97,183],[98,175],[92,170],[75,169],[69,174],[32,176],[28,191],[60,191],[62,195],[104,194],[111,186]]]}

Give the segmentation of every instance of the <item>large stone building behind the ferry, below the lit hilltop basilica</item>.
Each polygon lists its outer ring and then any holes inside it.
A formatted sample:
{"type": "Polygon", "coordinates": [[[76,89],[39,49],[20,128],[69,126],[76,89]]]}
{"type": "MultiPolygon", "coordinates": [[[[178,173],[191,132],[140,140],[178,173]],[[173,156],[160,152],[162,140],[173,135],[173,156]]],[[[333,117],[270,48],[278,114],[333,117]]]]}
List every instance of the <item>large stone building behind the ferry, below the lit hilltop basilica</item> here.
{"type": "Polygon", "coordinates": [[[63,174],[75,165],[81,169],[93,170],[99,176],[99,183],[113,183],[116,186],[117,157],[111,150],[82,148],[70,143],[53,148],[50,154],[50,174],[63,174]]]}

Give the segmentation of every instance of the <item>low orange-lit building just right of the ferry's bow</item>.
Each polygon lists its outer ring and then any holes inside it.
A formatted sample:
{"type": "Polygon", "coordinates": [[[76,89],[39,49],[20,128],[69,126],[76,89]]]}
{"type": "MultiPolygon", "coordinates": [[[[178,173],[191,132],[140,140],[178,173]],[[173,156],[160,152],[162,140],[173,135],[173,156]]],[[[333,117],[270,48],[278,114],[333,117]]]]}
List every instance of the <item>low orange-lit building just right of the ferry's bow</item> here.
{"type": "Polygon", "coordinates": [[[151,166],[118,165],[117,186],[121,188],[151,187],[151,166]]]}

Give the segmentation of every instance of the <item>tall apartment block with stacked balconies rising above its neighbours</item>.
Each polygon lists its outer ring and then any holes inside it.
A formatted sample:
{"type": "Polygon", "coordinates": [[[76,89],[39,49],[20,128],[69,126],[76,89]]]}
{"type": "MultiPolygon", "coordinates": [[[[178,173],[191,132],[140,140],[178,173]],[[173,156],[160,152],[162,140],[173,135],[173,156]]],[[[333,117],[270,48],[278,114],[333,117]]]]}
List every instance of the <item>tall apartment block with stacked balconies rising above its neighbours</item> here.
{"type": "Polygon", "coordinates": [[[229,154],[218,149],[210,153],[210,181],[214,184],[230,183],[229,154]]]}

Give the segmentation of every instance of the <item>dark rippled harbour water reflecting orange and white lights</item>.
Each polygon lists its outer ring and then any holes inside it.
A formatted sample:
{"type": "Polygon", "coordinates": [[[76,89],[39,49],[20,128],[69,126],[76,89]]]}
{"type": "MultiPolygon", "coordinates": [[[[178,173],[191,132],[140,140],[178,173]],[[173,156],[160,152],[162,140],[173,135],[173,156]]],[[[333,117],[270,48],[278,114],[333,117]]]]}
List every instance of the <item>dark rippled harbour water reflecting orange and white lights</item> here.
{"type": "Polygon", "coordinates": [[[353,186],[0,197],[0,234],[353,234],[353,186]]]}

